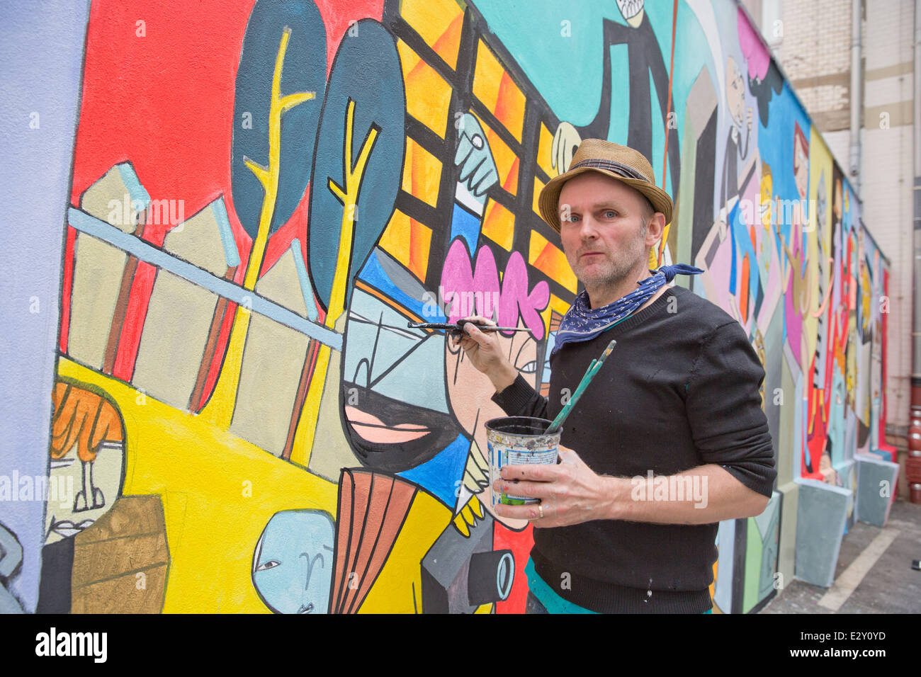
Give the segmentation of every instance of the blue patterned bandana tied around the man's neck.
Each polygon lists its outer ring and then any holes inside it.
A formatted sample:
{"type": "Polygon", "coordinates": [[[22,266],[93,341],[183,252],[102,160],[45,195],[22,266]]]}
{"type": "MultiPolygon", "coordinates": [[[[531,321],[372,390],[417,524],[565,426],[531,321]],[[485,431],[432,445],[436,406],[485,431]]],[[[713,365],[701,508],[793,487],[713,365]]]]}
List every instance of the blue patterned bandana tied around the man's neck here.
{"type": "Polygon", "coordinates": [[[649,272],[652,273],[651,277],[637,282],[632,292],[607,306],[590,308],[588,292],[583,291],[579,294],[566,312],[563,321],[560,322],[560,328],[556,330],[556,341],[551,354],[565,344],[590,341],[598,334],[611,329],[618,322],[626,320],[661,286],[670,283],[676,274],[696,275],[704,271],[694,268],[693,265],[675,263],[674,265],[663,265],[658,271],[650,270],[649,272]]]}

